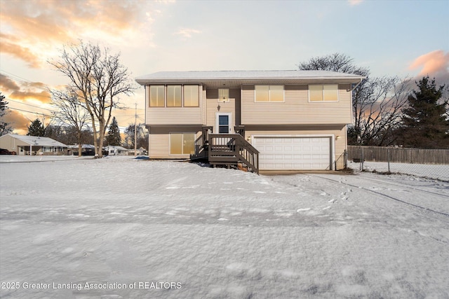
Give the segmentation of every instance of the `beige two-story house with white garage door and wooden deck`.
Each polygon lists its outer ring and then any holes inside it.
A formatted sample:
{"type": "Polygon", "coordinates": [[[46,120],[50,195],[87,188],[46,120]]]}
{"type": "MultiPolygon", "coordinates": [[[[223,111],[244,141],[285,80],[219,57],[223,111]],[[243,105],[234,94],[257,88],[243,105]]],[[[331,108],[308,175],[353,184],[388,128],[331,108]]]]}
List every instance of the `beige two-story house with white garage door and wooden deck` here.
{"type": "Polygon", "coordinates": [[[351,91],[332,71],[162,71],[145,87],[149,158],[259,170],[342,169],[351,91]]]}

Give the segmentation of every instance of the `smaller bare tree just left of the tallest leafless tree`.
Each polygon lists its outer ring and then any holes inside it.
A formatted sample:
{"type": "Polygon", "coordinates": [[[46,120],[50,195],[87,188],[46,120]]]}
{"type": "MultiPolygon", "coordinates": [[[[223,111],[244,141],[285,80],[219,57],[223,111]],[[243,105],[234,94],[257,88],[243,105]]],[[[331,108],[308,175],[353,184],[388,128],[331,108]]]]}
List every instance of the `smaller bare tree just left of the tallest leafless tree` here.
{"type": "Polygon", "coordinates": [[[89,114],[86,106],[79,96],[66,88],[65,91],[49,90],[53,106],[58,109],[54,113],[54,118],[62,125],[69,125],[76,132],[76,141],[78,143],[78,156],[81,157],[81,149],[83,146],[82,132],[87,127],[89,114]]]}

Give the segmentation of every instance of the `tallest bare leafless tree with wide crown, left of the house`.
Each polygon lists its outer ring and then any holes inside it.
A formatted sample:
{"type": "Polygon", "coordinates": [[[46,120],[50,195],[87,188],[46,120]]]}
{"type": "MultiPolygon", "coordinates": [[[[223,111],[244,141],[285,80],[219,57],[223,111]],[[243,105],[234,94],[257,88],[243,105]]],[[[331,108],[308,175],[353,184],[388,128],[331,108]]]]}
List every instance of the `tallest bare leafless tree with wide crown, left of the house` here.
{"type": "Polygon", "coordinates": [[[102,157],[105,132],[112,117],[112,109],[120,95],[133,93],[128,69],[119,62],[119,54],[102,52],[99,46],[83,43],[63,48],[60,60],[49,63],[70,80],[70,88],[81,97],[91,116],[95,155],[102,157]]]}

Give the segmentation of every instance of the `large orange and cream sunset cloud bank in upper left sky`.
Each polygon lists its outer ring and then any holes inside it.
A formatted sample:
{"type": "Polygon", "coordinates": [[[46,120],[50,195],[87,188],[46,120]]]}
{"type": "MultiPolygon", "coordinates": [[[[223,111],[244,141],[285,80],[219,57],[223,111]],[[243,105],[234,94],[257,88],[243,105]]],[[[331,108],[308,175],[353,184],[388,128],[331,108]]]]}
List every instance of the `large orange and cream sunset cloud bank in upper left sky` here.
{"type": "MultiPolygon", "coordinates": [[[[133,45],[150,22],[142,6],[147,1],[2,1],[1,51],[43,67],[58,48],[78,39],[133,45]]],[[[148,29],[148,28],[146,28],[148,29]]],[[[148,30],[147,30],[148,31],[148,30]]],[[[145,35],[146,39],[149,39],[145,35]]],[[[138,39],[145,41],[145,39],[138,39]]]]}

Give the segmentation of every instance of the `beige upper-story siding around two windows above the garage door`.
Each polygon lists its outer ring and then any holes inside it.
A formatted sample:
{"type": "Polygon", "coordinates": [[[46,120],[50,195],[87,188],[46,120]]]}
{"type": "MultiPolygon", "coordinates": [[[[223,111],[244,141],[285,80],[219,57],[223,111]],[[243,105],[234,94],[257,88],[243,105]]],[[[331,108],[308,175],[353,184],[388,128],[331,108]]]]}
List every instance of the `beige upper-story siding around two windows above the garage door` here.
{"type": "Polygon", "coordinates": [[[351,123],[349,88],[350,85],[339,85],[338,102],[309,102],[308,85],[285,85],[284,102],[255,102],[254,85],[244,85],[241,90],[241,124],[351,123]]]}

